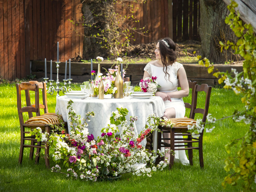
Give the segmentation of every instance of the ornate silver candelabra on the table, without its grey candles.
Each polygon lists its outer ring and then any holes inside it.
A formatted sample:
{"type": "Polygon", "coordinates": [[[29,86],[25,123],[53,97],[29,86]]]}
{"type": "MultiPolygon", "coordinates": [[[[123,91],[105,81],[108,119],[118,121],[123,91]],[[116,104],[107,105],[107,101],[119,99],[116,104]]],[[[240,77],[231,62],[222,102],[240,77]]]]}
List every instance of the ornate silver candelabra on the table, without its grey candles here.
{"type": "MultiPolygon", "coordinates": [[[[62,86],[62,87],[59,88],[59,84],[60,84],[60,81],[59,81],[59,67],[60,67],[60,62],[56,61],[55,63],[57,64],[57,65],[56,65],[56,67],[57,67],[56,88],[52,85],[52,83],[53,83],[54,80],[49,80],[49,81],[50,81],[50,87],[49,87],[49,88],[46,88],[46,89],[48,90],[47,93],[50,93],[51,95],[56,91],[56,92],[57,92],[57,96],[56,96],[56,97],[59,97],[59,96],[60,96],[60,95],[59,95],[59,92],[60,92],[60,91],[62,91],[63,93],[65,93],[65,92],[67,92],[67,91],[72,91],[72,89],[71,89],[71,80],[72,80],[72,79],[63,79],[63,81],[64,81],[64,86],[62,86]],[[68,82],[68,85],[69,85],[68,89],[67,89],[67,87],[66,87],[67,82],[68,82]]],[[[44,81],[45,81],[46,84],[48,83],[48,79],[49,79],[49,78],[44,78],[44,81]]]]}

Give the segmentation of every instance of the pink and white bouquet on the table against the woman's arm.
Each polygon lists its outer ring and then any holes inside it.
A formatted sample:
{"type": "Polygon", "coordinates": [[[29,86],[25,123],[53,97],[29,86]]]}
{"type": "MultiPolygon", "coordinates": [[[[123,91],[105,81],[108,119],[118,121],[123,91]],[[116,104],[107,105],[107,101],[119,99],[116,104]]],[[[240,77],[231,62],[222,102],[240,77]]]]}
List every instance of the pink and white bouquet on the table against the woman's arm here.
{"type": "Polygon", "coordinates": [[[161,87],[157,81],[156,81],[156,76],[155,77],[146,77],[144,80],[141,79],[140,80],[140,89],[143,91],[143,92],[156,92],[157,91],[157,88],[161,87]]]}

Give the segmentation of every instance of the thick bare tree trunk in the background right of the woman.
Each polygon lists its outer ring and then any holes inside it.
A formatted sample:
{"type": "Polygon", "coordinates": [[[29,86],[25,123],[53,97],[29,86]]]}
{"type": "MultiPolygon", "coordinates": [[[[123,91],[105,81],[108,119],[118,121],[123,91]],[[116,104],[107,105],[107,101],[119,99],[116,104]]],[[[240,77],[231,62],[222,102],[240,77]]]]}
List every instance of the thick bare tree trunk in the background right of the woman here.
{"type": "Polygon", "coordinates": [[[220,52],[220,41],[224,44],[228,40],[236,42],[234,32],[225,23],[228,14],[227,4],[222,0],[200,0],[200,55],[207,57],[213,63],[237,60],[231,49],[223,48],[223,52],[220,52]]]}

